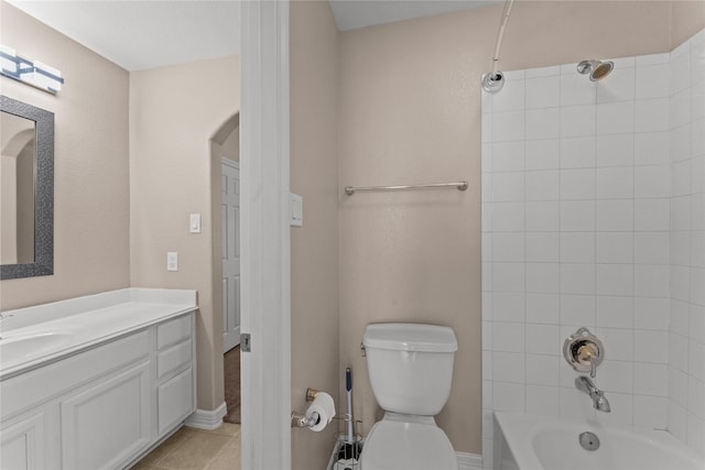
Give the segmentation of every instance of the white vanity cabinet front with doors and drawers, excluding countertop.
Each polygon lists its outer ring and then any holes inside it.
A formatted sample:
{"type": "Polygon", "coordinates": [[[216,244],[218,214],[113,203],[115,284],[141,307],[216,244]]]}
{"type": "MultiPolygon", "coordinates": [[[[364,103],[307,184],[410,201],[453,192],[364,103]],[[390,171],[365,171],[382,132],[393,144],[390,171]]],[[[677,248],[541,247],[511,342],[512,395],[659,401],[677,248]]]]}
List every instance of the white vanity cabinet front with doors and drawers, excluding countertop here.
{"type": "Polygon", "coordinates": [[[122,469],[196,408],[195,310],[0,382],[0,469],[122,469]]]}

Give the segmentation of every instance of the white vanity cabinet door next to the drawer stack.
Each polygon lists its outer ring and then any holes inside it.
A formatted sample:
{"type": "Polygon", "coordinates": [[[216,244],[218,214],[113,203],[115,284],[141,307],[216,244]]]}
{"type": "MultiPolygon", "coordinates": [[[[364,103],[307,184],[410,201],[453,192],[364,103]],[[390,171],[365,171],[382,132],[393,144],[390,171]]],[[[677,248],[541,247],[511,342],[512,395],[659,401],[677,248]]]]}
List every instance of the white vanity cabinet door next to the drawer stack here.
{"type": "Polygon", "coordinates": [[[150,407],[149,362],[62,401],[63,468],[122,467],[150,442],[150,407]]]}

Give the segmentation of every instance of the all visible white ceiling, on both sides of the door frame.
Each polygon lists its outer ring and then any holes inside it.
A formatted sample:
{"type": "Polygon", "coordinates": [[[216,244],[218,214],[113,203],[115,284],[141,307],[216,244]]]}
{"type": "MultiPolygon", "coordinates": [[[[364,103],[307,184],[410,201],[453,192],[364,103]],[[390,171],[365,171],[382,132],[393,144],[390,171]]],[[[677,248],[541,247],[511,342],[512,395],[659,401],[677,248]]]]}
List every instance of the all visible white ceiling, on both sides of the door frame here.
{"type": "MultiPolygon", "coordinates": [[[[7,1],[131,72],[240,51],[237,0],[7,1]]],[[[495,3],[503,0],[330,0],[340,31],[495,3]]]]}

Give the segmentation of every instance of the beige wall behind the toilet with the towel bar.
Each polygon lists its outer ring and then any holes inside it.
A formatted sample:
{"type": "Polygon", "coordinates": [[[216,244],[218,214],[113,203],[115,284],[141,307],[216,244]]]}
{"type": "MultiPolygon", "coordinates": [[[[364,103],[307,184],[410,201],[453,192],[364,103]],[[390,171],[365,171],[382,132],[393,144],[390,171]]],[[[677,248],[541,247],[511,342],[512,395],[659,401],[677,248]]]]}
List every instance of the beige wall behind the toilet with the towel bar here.
{"type": "Polygon", "coordinates": [[[485,24],[488,18],[478,10],[344,33],[338,127],[340,186],[469,182],[467,192],[339,196],[339,335],[340,362],[356,371],[355,413],[367,434],[381,411],[360,357],[365,326],[451,326],[459,346],[438,424],[456,450],[476,452],[479,91],[473,67],[480,65],[473,57],[480,58],[481,32],[496,29],[485,24]]]}

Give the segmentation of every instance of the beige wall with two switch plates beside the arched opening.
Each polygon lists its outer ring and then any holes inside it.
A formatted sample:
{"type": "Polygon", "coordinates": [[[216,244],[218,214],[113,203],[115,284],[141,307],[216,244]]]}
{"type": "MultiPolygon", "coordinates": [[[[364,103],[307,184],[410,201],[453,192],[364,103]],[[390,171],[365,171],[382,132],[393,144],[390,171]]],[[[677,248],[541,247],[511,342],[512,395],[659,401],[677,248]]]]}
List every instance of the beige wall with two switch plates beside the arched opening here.
{"type": "Polygon", "coordinates": [[[130,260],[135,287],[198,291],[199,409],[223,403],[223,316],[214,298],[210,139],[239,111],[239,58],[227,57],[130,75],[130,260]],[[202,233],[188,215],[202,215],[202,233]],[[166,271],[166,252],[178,271],[166,271]]]}

